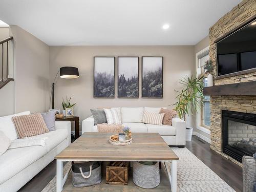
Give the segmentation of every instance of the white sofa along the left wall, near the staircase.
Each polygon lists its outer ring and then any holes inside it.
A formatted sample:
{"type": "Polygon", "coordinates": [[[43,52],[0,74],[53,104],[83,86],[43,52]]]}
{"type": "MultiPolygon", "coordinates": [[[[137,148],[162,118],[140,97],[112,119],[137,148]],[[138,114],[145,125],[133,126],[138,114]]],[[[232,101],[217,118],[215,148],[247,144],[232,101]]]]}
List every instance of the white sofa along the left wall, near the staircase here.
{"type": "Polygon", "coordinates": [[[44,146],[12,148],[0,156],[0,192],[17,191],[71,143],[70,121],[55,121],[55,128],[55,131],[33,136],[35,139],[44,137],[44,146]]]}

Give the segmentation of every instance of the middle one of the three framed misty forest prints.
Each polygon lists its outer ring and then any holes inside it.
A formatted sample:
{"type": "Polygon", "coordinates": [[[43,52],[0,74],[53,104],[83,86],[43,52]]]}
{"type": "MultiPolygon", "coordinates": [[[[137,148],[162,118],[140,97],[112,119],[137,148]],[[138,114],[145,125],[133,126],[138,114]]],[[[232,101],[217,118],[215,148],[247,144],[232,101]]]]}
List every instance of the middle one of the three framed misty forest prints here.
{"type": "Polygon", "coordinates": [[[139,57],[118,57],[118,97],[139,97],[139,57]]]}

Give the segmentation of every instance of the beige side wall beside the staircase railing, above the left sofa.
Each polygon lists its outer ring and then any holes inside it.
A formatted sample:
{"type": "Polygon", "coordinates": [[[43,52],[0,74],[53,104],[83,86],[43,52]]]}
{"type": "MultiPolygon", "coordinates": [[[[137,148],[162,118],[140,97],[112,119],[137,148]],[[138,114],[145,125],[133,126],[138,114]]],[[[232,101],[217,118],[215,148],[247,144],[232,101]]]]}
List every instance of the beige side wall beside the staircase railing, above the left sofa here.
{"type": "Polygon", "coordinates": [[[45,112],[49,101],[49,46],[18,26],[10,26],[14,37],[15,108],[45,112]]]}

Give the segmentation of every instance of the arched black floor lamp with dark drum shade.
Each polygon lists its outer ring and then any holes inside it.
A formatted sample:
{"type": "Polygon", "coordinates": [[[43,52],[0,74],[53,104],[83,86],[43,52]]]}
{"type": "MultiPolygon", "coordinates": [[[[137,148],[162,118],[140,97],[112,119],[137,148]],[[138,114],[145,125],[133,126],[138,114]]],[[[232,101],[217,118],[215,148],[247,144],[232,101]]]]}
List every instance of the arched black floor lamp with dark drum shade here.
{"type": "Polygon", "coordinates": [[[63,79],[75,79],[79,77],[78,68],[76,67],[61,67],[58,70],[52,83],[52,91],[50,95],[50,103],[51,103],[51,97],[52,97],[52,109],[54,109],[54,86],[55,86],[55,80],[57,78],[58,73],[60,78],[63,78],[63,79]]]}

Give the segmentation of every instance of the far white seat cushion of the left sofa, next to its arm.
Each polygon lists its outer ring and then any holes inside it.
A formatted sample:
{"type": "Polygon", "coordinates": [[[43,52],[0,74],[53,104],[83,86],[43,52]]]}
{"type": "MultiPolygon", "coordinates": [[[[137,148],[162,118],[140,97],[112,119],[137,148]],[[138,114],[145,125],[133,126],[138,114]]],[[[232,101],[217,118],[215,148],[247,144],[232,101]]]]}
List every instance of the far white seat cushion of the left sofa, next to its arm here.
{"type": "Polygon", "coordinates": [[[48,153],[54,147],[56,147],[59,143],[61,143],[63,140],[67,139],[68,130],[58,129],[58,130],[51,131],[51,132],[48,132],[48,133],[44,133],[44,134],[41,134],[41,135],[33,136],[33,138],[38,138],[38,139],[40,139],[41,137],[47,137],[45,142],[46,142],[47,153],[48,153]]]}

